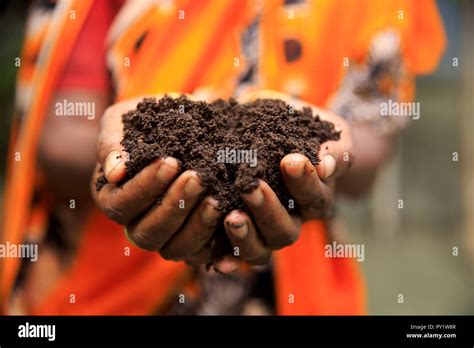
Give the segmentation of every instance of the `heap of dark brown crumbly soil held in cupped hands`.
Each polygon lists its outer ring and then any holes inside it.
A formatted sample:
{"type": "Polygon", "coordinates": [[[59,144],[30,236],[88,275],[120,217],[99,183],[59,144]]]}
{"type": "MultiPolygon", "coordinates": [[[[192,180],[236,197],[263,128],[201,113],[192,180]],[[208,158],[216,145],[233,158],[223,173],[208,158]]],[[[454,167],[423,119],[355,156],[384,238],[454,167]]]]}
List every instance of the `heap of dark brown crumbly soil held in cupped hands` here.
{"type": "MultiPolygon", "coordinates": [[[[281,178],[281,159],[289,153],[301,153],[316,165],[320,144],[339,139],[334,125],[313,115],[310,108],[296,110],[276,99],[239,104],[234,99],[206,103],[185,96],[166,96],[158,101],[146,98],[122,120],[121,144],[130,155],[125,163],[125,181],[156,158],[174,157],[182,171],[198,173],[206,195],[219,202],[223,216],[233,209],[248,212],[239,192],[251,192],[258,179],[270,185],[290,213],[297,214],[297,206],[289,208],[293,205],[289,205],[291,196],[281,178]],[[256,163],[248,161],[249,157],[246,163],[235,163],[238,157],[232,154],[249,154],[249,150],[256,151],[256,163]],[[224,160],[223,153],[228,155],[224,160]]],[[[97,189],[105,183],[101,178],[97,189]]],[[[209,243],[214,259],[230,254],[222,223],[209,243]]]]}

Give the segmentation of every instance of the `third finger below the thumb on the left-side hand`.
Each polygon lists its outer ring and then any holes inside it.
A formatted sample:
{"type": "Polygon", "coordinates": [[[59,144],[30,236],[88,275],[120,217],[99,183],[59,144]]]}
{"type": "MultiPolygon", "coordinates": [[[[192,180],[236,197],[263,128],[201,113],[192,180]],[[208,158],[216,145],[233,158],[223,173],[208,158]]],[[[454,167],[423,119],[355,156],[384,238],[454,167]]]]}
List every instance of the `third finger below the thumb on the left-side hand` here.
{"type": "Polygon", "coordinates": [[[161,249],[165,259],[182,259],[198,252],[211,238],[222,212],[215,199],[206,197],[186,224],[161,249]]]}

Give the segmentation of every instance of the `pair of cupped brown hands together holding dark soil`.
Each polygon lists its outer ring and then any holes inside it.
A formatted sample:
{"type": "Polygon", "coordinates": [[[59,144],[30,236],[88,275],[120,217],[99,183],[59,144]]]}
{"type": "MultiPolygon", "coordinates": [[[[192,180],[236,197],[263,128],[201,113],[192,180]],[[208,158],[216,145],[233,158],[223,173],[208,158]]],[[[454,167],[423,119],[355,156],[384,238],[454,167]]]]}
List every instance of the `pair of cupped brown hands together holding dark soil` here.
{"type": "MultiPolygon", "coordinates": [[[[295,108],[310,106],[321,119],[334,123],[336,129],[341,130],[341,138],[321,145],[321,162],[317,166],[300,154],[289,154],[282,159],[282,178],[300,208],[300,216],[290,215],[262,180],[253,192],[241,194],[250,215],[232,211],[225,217],[227,236],[239,249],[239,256],[227,256],[216,262],[214,268],[222,273],[234,271],[241,261],[252,265],[267,263],[272,251],[298,239],[302,221],[326,216],[333,201],[333,179],[343,174],[352,161],[350,129],[342,118],[276,92],[254,93],[241,101],[257,98],[283,99],[295,108]]],[[[205,191],[195,172],[180,174],[176,159],[168,157],[155,160],[123,185],[118,185],[126,176],[128,156],[120,145],[123,137],[121,116],[136,108],[142,99],[114,104],[101,120],[98,165],[92,186],[100,175],[105,175],[108,183],[100,191],[93,188],[93,198],[110,219],[125,226],[128,238],[138,247],[158,251],[165,259],[184,260],[193,266],[208,264],[213,260],[207,242],[217,227],[221,212],[215,199],[205,197],[201,200],[205,191]],[[161,198],[158,200],[158,197],[161,198]]]]}

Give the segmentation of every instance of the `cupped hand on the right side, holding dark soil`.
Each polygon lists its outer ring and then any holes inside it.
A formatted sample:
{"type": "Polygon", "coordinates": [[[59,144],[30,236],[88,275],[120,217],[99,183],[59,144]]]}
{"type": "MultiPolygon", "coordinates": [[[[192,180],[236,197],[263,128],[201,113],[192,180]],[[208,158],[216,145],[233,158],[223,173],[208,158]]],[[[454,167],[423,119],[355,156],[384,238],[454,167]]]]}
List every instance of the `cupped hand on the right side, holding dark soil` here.
{"type": "Polygon", "coordinates": [[[227,257],[220,262],[218,270],[223,273],[235,270],[240,261],[252,265],[266,264],[272,251],[295,243],[302,222],[326,216],[334,196],[333,179],[343,174],[353,160],[351,131],[341,117],[272,91],[253,93],[241,101],[258,98],[282,99],[295,108],[309,106],[321,119],[334,123],[341,135],[338,141],[321,144],[318,153],[321,162],[317,166],[301,154],[289,154],[281,160],[285,186],[299,205],[300,216],[290,215],[275,192],[262,180],[253,192],[241,194],[251,215],[234,210],[224,220],[231,244],[239,248],[239,257],[227,257]]]}

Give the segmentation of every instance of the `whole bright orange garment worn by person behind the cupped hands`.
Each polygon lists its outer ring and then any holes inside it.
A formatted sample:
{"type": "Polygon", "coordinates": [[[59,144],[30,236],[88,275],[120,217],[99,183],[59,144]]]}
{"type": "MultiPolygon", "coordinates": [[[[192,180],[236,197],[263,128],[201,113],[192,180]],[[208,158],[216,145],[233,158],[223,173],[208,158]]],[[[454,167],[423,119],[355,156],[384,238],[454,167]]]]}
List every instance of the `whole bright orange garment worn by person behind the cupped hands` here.
{"type": "MultiPolygon", "coordinates": [[[[405,66],[412,75],[433,69],[445,44],[432,0],[319,0],[291,7],[285,7],[281,0],[268,0],[260,9],[257,3],[262,2],[126,2],[108,41],[117,99],[170,91],[192,93],[203,88],[221,97],[232,95],[247,64],[240,38],[257,14],[260,51],[254,89],[275,89],[318,105],[324,105],[337,91],[345,73],[344,58],[363,61],[371,38],[381,30],[400,33],[405,66]],[[285,59],[282,43],[288,38],[301,43],[302,55],[296,61],[285,59]]],[[[25,238],[38,133],[90,5],[87,0],[71,1],[71,8],[80,10],[80,20],[58,20],[45,34],[45,40],[54,44],[44,65],[32,74],[34,98],[18,134],[19,145],[13,148],[22,149],[22,163],[9,166],[5,241],[20,243],[25,238]],[[57,33],[61,33],[59,37],[57,33]]],[[[295,245],[275,253],[279,314],[365,313],[364,285],[357,263],[324,257],[326,238],[325,224],[310,221],[303,225],[295,245]],[[294,301],[289,301],[290,295],[294,301]]],[[[3,298],[8,298],[18,264],[8,259],[3,266],[1,289],[3,298]]],[[[186,281],[186,270],[182,263],[134,248],[120,226],[93,211],[75,262],[31,311],[149,314],[166,305],[172,291],[186,281]],[[127,247],[131,248],[130,256],[124,255],[127,247]],[[70,294],[76,297],[73,305],[70,294]]]]}

